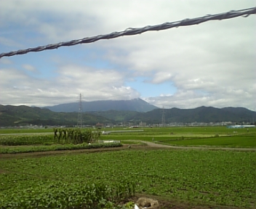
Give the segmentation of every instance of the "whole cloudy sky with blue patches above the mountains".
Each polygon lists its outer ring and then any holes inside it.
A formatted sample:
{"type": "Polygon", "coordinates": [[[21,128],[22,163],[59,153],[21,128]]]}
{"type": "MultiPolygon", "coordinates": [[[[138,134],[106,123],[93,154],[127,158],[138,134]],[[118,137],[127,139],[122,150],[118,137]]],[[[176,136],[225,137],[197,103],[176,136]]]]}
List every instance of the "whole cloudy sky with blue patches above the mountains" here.
{"type": "MultiPolygon", "coordinates": [[[[0,53],[255,7],[255,0],[0,0],[0,53]]],[[[256,110],[256,18],[0,59],[0,104],[135,99],[164,108],[256,110]]]]}

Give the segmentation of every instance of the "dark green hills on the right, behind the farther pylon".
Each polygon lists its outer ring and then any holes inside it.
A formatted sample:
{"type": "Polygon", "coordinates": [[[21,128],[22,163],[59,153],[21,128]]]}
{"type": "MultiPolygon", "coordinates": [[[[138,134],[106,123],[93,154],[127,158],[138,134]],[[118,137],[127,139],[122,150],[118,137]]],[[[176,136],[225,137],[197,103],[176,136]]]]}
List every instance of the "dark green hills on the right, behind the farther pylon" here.
{"type": "Polygon", "coordinates": [[[244,107],[197,107],[194,109],[155,109],[149,112],[124,112],[124,111],[105,111],[91,112],[95,115],[101,115],[116,122],[133,122],[140,121],[147,124],[161,123],[164,111],[165,123],[219,123],[231,121],[236,123],[247,122],[253,123],[256,118],[256,112],[247,110],[244,107]]]}

